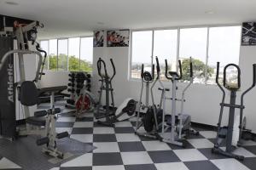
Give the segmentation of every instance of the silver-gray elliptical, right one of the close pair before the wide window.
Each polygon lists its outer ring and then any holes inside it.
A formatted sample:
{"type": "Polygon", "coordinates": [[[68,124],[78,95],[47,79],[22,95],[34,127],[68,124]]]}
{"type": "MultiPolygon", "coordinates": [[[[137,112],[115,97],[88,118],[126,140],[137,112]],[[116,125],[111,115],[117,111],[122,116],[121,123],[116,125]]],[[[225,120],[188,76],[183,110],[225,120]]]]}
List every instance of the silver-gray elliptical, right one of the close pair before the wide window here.
{"type": "MultiPolygon", "coordinates": [[[[166,139],[163,138],[162,141],[169,143],[169,144],[176,144],[179,146],[185,147],[183,143],[183,139],[190,134],[195,134],[199,135],[198,132],[195,130],[191,129],[191,116],[184,114],[183,113],[183,105],[185,102],[185,91],[189,88],[189,86],[193,83],[193,64],[192,64],[192,58],[190,57],[190,70],[189,70],[189,84],[183,88],[182,92],[182,99],[177,99],[177,81],[181,80],[183,77],[183,71],[182,71],[182,64],[181,60],[178,60],[178,67],[179,67],[179,73],[177,71],[168,71],[168,63],[167,59],[165,60],[166,62],[166,78],[168,80],[172,81],[172,98],[166,98],[165,93],[162,95],[164,98],[163,101],[163,119],[162,119],[162,133],[165,132],[165,130],[169,127],[171,127],[171,138],[166,139]],[[171,99],[172,100],[172,115],[166,115],[165,113],[165,107],[166,107],[166,99],[171,99]],[[176,110],[176,102],[180,101],[181,102],[181,111],[180,113],[177,114],[176,110]]],[[[164,92],[166,89],[163,87],[163,84],[160,83],[162,88],[164,89],[164,92]]]]}

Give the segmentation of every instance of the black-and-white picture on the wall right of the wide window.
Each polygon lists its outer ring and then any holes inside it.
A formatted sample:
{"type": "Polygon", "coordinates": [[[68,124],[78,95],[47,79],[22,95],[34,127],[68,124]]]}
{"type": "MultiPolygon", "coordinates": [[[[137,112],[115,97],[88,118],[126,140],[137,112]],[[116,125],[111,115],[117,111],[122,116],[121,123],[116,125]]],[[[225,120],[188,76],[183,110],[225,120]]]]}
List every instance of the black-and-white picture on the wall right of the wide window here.
{"type": "Polygon", "coordinates": [[[241,45],[256,45],[256,22],[242,23],[241,45]]]}

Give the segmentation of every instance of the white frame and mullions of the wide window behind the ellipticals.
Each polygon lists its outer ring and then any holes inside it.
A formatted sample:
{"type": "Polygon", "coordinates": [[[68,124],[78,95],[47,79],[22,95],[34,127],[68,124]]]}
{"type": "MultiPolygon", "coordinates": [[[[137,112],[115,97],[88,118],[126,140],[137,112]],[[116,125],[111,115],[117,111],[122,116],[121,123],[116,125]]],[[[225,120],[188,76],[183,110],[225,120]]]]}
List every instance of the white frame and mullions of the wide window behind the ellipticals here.
{"type": "MultiPolygon", "coordinates": [[[[209,30],[212,27],[231,27],[231,26],[240,26],[241,27],[241,23],[234,23],[234,24],[226,24],[226,25],[200,25],[200,26],[172,26],[172,27],[162,27],[162,28],[147,28],[147,29],[131,29],[131,41],[130,41],[130,51],[129,51],[129,58],[130,58],[130,63],[129,63],[129,73],[128,73],[128,79],[129,81],[139,81],[139,78],[133,78],[131,77],[131,65],[132,65],[132,32],[133,31],[153,31],[152,33],[152,56],[151,56],[151,65],[153,65],[154,61],[154,31],[164,31],[164,30],[177,30],[177,59],[176,62],[179,59],[179,49],[180,49],[180,30],[181,29],[189,29],[189,28],[207,28],[207,50],[206,50],[206,59],[205,59],[205,64],[206,64],[206,71],[205,71],[205,81],[204,83],[198,83],[198,84],[204,84],[206,86],[208,85],[216,85],[216,84],[208,84],[207,83],[207,67],[208,67],[208,58],[209,58],[209,30]]],[[[241,32],[240,32],[240,42],[241,42],[241,32]]],[[[240,58],[240,56],[239,56],[240,58]]],[[[240,59],[238,59],[238,65],[240,65],[240,59]]],[[[177,66],[176,66],[176,70],[177,70],[177,66]]],[[[189,82],[184,82],[184,83],[189,83],[189,82]]],[[[194,82],[193,82],[194,83],[194,82]]]]}

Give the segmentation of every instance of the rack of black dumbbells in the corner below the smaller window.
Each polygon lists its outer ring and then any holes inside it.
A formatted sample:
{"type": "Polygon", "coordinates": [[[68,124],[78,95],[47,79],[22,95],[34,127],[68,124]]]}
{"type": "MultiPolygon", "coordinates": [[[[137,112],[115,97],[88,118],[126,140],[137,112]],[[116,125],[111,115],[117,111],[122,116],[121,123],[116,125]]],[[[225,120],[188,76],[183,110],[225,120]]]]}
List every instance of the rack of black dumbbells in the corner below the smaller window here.
{"type": "Polygon", "coordinates": [[[68,89],[70,93],[69,99],[67,99],[67,108],[75,109],[75,101],[78,99],[81,89],[84,88],[90,92],[90,74],[87,72],[70,72],[68,74],[68,89]],[[84,83],[85,82],[85,83],[84,83]]]}

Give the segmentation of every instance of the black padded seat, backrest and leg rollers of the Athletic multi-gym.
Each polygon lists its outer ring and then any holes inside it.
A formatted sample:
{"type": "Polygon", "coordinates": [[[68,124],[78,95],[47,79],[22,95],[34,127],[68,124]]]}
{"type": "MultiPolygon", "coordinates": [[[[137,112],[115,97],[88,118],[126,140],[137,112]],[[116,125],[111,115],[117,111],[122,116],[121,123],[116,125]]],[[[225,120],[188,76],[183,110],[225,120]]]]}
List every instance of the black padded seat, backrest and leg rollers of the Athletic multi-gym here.
{"type": "Polygon", "coordinates": [[[67,89],[66,86],[37,88],[34,82],[25,81],[20,85],[19,99],[21,105],[32,106],[38,104],[40,93],[50,94],[50,108],[47,111],[35,111],[34,116],[26,117],[26,134],[40,135],[37,139],[38,145],[46,144],[43,152],[50,156],[63,158],[64,154],[57,150],[56,139],[68,136],[67,132],[56,133],[56,114],[61,112],[60,108],[55,108],[55,94],[67,89]]]}

